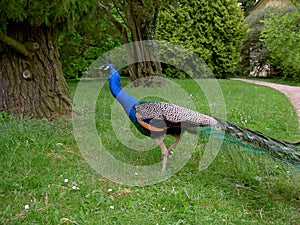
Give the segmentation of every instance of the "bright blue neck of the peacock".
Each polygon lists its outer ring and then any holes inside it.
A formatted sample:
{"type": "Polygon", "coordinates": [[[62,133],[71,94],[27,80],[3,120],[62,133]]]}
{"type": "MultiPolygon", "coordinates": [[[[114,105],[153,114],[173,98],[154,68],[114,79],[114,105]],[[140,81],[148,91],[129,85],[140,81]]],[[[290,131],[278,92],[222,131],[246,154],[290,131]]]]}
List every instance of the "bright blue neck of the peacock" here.
{"type": "Polygon", "coordinates": [[[138,102],[138,100],[129,94],[127,94],[120,85],[120,74],[114,68],[111,68],[109,75],[109,88],[112,95],[120,102],[123,106],[127,116],[129,116],[131,109],[138,102]]]}

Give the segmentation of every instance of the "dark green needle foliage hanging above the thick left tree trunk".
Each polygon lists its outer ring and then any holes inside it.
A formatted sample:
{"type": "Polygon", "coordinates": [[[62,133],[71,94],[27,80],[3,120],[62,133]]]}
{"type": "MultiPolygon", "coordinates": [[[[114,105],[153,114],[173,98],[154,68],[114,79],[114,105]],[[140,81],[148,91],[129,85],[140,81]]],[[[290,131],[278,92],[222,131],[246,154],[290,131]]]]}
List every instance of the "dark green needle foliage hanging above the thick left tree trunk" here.
{"type": "Polygon", "coordinates": [[[94,0],[79,1],[11,1],[0,2],[0,31],[5,32],[10,20],[26,22],[31,26],[52,26],[59,28],[72,26],[95,6],[94,0]]]}

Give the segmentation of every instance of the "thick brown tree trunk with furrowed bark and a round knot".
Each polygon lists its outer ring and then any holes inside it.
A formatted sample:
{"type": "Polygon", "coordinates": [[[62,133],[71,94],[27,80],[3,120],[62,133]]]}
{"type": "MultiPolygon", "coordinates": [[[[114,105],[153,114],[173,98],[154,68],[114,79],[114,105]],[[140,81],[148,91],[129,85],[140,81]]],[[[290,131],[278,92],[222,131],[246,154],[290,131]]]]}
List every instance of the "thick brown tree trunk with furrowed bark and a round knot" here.
{"type": "Polygon", "coordinates": [[[18,118],[69,115],[57,34],[50,27],[14,24],[0,34],[0,111],[18,118]]]}

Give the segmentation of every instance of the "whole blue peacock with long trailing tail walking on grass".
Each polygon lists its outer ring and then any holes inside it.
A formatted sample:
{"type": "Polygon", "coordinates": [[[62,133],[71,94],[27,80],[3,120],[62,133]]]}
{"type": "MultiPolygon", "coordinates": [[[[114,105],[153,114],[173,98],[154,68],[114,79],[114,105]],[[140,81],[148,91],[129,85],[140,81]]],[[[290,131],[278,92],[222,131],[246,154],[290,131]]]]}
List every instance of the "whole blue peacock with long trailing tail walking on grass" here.
{"type": "Polygon", "coordinates": [[[253,131],[233,123],[201,114],[168,102],[144,102],[126,93],[120,85],[120,74],[105,64],[100,70],[109,73],[109,88],[122,105],[125,113],[143,135],[151,137],[161,149],[162,171],[166,170],[169,152],[179,143],[182,134],[204,132],[215,134],[237,143],[253,152],[267,154],[285,162],[300,171],[300,142],[291,143],[276,140],[261,132],[253,131]],[[175,141],[167,147],[164,136],[172,135],[175,141]]]}

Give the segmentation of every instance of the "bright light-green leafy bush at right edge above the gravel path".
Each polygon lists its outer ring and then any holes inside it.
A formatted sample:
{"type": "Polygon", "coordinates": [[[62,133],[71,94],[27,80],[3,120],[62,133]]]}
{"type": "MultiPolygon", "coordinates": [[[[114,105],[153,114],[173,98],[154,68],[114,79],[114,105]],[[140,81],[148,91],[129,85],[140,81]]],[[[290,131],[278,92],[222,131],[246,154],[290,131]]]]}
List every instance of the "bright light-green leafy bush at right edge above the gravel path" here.
{"type": "Polygon", "coordinates": [[[285,11],[264,21],[262,41],[270,50],[270,63],[285,77],[300,80],[300,10],[289,6],[285,11]]]}

